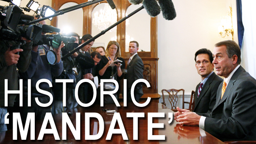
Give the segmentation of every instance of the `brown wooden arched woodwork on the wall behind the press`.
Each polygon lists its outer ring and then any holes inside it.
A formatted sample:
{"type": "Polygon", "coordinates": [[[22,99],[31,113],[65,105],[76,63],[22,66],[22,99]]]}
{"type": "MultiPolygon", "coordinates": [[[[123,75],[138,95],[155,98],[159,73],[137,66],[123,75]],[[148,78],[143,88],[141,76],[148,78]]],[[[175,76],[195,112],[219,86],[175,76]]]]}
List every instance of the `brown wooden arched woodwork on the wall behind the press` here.
{"type": "MultiPolygon", "coordinates": [[[[117,10],[117,21],[125,17],[125,12],[127,8],[131,5],[128,0],[113,0],[116,5],[117,10]]],[[[64,3],[84,3],[85,0],[53,0],[52,7],[57,11],[64,3]]],[[[102,1],[100,3],[106,3],[106,1],[102,1]]],[[[87,33],[92,33],[92,11],[96,5],[99,3],[89,5],[83,8],[83,35],[87,33]]],[[[58,17],[53,18],[51,25],[54,27],[57,26],[58,17]]],[[[144,63],[145,70],[143,71],[143,77],[150,83],[150,87],[148,88],[146,85],[143,86],[143,92],[145,95],[148,94],[157,94],[158,92],[158,81],[157,81],[157,17],[151,18],[150,22],[150,52],[138,52],[139,56],[142,58],[144,63]]],[[[136,40],[135,40],[136,41],[136,40]]],[[[121,56],[125,59],[126,65],[128,63],[128,59],[130,57],[129,52],[125,52],[125,22],[117,25],[117,42],[121,47],[121,56]]]]}

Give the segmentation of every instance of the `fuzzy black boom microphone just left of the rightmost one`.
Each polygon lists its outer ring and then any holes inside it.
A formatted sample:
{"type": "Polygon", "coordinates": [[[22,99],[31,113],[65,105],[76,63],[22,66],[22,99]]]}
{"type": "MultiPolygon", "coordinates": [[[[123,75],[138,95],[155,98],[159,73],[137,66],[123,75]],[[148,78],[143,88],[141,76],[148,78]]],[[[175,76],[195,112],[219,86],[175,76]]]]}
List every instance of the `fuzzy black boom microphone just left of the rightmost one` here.
{"type": "Polygon", "coordinates": [[[160,14],[161,9],[157,4],[156,0],[143,0],[142,5],[151,17],[156,17],[160,14]]]}

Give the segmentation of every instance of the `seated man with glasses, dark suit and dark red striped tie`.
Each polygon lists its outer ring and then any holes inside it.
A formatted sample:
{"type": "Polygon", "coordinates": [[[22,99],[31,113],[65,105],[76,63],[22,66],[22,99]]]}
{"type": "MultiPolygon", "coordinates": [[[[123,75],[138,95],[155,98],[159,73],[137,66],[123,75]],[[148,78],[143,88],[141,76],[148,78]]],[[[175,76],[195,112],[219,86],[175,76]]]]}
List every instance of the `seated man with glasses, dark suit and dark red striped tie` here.
{"type": "Polygon", "coordinates": [[[195,67],[201,76],[201,82],[195,89],[196,113],[210,113],[216,103],[216,94],[220,83],[223,81],[213,72],[213,57],[209,49],[199,49],[195,53],[195,67]]]}

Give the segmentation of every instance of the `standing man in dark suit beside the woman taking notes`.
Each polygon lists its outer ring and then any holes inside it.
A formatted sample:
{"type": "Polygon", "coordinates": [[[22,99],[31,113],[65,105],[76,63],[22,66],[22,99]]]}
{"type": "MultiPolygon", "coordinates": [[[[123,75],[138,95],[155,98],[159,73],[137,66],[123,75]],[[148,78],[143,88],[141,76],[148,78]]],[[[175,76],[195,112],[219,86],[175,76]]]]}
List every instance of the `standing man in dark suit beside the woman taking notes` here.
{"type": "MultiPolygon", "coordinates": [[[[129,43],[129,52],[130,59],[128,60],[127,65],[127,74],[125,75],[125,79],[127,79],[127,101],[131,102],[131,86],[137,79],[143,79],[143,62],[142,59],[137,54],[139,49],[139,43],[136,41],[131,41],[129,43]]],[[[139,98],[142,97],[142,83],[136,84],[134,88],[134,98],[136,102],[139,103],[139,98]]]]}

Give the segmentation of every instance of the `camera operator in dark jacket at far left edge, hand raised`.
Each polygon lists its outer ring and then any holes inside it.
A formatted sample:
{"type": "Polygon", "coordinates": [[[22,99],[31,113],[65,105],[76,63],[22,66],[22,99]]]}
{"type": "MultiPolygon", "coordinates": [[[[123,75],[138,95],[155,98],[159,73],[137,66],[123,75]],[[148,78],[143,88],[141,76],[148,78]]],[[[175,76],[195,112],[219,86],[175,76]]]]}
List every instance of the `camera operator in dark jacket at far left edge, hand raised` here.
{"type": "MultiPolygon", "coordinates": [[[[11,41],[0,40],[0,132],[6,131],[4,122],[7,114],[5,106],[5,79],[8,79],[8,90],[18,90],[18,71],[25,72],[31,62],[32,41],[22,38],[26,43],[20,49],[11,49],[11,41]],[[19,52],[19,54],[17,54],[19,52]]],[[[14,106],[17,94],[8,94],[8,106],[14,106]]]]}

